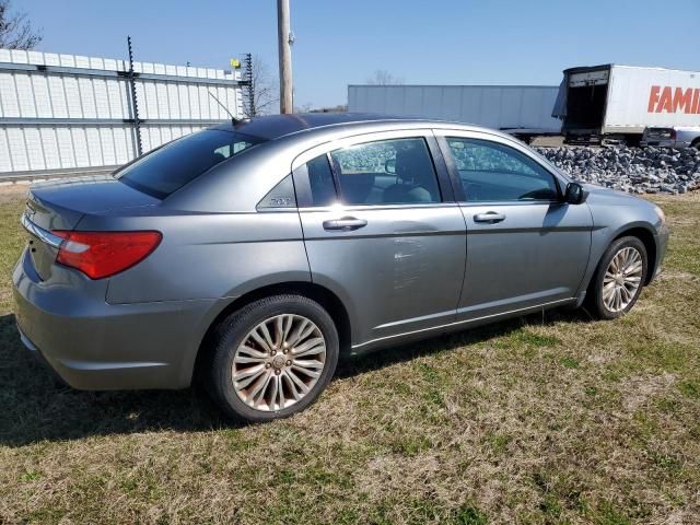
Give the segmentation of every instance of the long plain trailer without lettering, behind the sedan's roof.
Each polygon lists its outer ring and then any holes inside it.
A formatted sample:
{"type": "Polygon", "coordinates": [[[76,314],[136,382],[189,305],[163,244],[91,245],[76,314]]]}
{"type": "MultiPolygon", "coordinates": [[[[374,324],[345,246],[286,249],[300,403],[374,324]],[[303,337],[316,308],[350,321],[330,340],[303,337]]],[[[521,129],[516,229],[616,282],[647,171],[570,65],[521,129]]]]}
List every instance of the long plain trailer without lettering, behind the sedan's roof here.
{"type": "Polygon", "coordinates": [[[559,133],[551,85],[349,85],[348,110],[438,118],[511,130],[559,133]]]}

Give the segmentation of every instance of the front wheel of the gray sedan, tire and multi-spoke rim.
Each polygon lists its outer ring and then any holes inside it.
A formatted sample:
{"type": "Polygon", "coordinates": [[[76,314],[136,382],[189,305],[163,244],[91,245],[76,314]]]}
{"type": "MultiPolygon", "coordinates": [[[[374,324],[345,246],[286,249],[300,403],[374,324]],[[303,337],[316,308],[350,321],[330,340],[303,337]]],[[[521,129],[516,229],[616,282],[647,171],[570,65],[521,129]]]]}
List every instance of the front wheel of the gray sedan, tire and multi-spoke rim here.
{"type": "Polygon", "coordinates": [[[627,314],[646,280],[648,256],[638,237],[621,237],[605,250],[588,291],[591,313],[600,319],[627,314]]]}

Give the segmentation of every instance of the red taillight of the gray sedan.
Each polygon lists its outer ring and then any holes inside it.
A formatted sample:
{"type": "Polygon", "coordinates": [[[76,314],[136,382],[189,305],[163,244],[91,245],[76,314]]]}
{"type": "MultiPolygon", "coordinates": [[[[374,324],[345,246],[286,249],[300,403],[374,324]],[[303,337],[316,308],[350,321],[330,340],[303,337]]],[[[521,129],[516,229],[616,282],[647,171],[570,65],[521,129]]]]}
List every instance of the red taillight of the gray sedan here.
{"type": "Polygon", "coordinates": [[[63,238],[56,259],[102,279],[131,268],[160,244],[160,232],[67,232],[55,231],[63,238]]]}

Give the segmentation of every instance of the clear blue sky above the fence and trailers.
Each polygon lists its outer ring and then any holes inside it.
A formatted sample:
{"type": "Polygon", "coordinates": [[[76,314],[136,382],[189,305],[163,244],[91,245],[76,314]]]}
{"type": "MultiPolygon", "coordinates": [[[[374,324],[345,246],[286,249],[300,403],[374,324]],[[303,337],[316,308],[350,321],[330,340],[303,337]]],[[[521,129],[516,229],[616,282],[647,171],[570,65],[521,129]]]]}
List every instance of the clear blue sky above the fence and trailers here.
{"type": "MultiPolygon", "coordinates": [[[[39,50],[277,73],[275,0],[15,0],[39,50]]],[[[572,66],[700,70],[700,0],[291,0],[295,104],[343,104],[377,69],[406,83],[558,84],[572,66]]]]}

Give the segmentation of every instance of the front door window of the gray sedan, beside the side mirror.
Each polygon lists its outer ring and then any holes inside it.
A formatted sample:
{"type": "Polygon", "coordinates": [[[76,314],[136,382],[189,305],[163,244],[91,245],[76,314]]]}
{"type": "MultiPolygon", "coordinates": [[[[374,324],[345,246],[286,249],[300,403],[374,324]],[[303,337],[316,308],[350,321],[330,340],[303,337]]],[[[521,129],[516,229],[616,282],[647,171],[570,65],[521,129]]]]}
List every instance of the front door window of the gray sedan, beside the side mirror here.
{"type": "Polygon", "coordinates": [[[533,159],[498,142],[448,137],[466,200],[558,200],[551,173],[533,159]]]}

